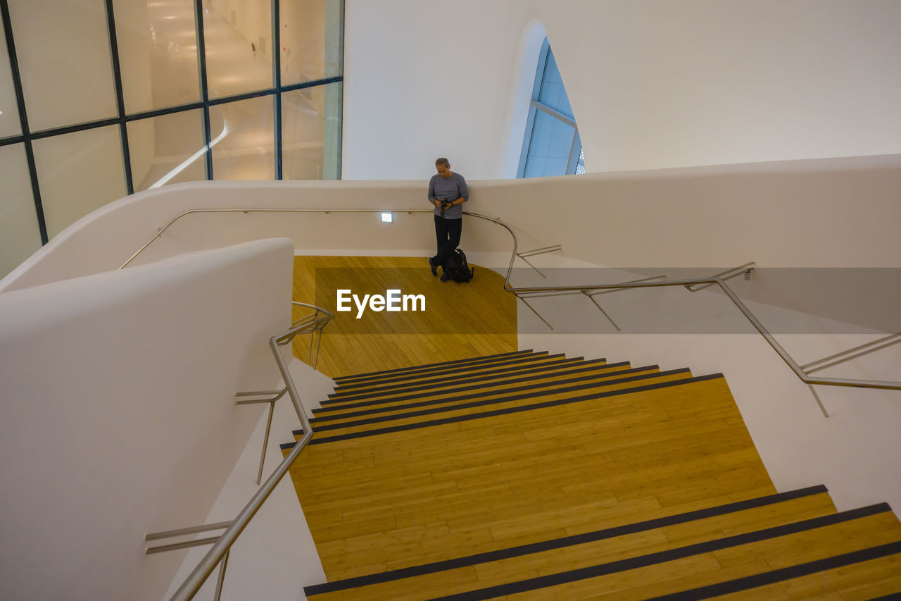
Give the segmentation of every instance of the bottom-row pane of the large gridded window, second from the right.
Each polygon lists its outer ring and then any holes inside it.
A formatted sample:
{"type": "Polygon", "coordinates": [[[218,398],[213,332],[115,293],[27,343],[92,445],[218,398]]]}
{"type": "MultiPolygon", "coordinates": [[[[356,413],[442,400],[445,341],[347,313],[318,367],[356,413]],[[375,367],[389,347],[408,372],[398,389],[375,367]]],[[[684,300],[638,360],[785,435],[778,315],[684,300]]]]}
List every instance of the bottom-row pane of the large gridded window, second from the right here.
{"type": "Polygon", "coordinates": [[[272,97],[210,107],[216,180],[274,180],[272,97]]]}

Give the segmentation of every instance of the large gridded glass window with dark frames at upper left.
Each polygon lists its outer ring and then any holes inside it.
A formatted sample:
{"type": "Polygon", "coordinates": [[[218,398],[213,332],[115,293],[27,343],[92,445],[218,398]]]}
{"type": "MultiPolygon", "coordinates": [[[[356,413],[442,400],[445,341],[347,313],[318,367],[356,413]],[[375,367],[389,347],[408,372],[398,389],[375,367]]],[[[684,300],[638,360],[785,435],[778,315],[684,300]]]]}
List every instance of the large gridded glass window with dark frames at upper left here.
{"type": "MultiPolygon", "coordinates": [[[[269,0],[4,0],[12,27],[0,42],[14,35],[24,108],[38,136],[31,138],[41,189],[42,207],[32,208],[35,220],[43,216],[38,231],[55,236],[128,190],[205,180],[210,156],[217,180],[340,179],[343,0],[278,2],[280,23],[273,25],[269,0]],[[198,5],[204,48],[197,45],[198,5]],[[113,69],[111,24],[121,81],[113,69]],[[278,49],[274,31],[283,42],[278,49]],[[273,51],[280,52],[280,89],[274,88],[273,51]],[[201,56],[205,81],[199,78],[201,56]],[[329,78],[339,81],[283,91],[329,78]],[[117,88],[127,138],[118,125],[97,127],[119,116],[117,88]],[[252,96],[248,92],[264,96],[235,98],[252,96]],[[275,94],[282,107],[278,120],[275,94]],[[215,104],[185,110],[204,97],[215,104]],[[156,116],[135,118],[150,112],[156,116]],[[123,144],[131,182],[124,177],[123,144]]],[[[15,136],[22,135],[9,57],[0,50],[0,139],[19,143],[15,136]]],[[[9,172],[27,174],[20,163],[10,159],[9,172]]],[[[8,214],[4,218],[13,223],[8,214]]],[[[31,236],[28,231],[23,236],[31,236]]]]}

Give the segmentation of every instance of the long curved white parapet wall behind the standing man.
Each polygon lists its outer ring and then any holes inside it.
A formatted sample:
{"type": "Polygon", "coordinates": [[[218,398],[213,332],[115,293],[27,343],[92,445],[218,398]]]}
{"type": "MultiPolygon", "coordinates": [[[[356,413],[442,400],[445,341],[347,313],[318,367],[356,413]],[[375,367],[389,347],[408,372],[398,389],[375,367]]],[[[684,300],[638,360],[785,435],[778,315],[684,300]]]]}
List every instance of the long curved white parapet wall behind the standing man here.
{"type": "MultiPolygon", "coordinates": [[[[897,267],[901,154],[719,167],[470,181],[467,210],[514,227],[520,249],[615,267],[897,267]],[[561,211],[560,199],[566,199],[561,211]]],[[[194,208],[428,208],[426,182],[193,182],[148,190],[83,217],[50,240],[0,291],[116,269],[159,228],[194,208]]],[[[493,224],[467,220],[463,248],[507,251],[493,224]]],[[[428,254],[431,216],[189,215],[140,262],[268,236],[298,251],[405,250],[428,254]]],[[[759,299],[761,300],[761,299],[759,299]]]]}

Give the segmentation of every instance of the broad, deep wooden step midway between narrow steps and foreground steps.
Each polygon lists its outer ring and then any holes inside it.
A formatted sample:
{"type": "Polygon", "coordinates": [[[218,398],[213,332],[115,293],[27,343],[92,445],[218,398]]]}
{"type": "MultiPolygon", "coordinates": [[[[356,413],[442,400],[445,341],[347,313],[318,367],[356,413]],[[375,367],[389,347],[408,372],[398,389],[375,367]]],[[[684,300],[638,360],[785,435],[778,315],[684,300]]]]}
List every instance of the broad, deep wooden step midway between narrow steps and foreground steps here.
{"type": "Polygon", "coordinates": [[[305,448],[292,477],[326,574],[405,568],[775,493],[721,377],[612,392],[305,448]]]}

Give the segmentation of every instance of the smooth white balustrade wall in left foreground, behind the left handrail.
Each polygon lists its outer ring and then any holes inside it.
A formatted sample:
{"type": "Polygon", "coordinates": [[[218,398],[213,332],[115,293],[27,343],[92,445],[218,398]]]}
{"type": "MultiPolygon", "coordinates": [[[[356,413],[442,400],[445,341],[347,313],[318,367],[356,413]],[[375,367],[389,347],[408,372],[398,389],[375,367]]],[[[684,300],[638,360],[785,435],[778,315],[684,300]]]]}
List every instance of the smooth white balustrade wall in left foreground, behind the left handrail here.
{"type": "Polygon", "coordinates": [[[278,383],[292,246],[266,240],[0,295],[0,597],[157,599],[278,383]],[[235,319],[240,316],[241,319],[235,319]]]}

